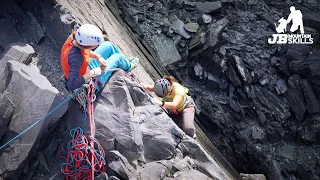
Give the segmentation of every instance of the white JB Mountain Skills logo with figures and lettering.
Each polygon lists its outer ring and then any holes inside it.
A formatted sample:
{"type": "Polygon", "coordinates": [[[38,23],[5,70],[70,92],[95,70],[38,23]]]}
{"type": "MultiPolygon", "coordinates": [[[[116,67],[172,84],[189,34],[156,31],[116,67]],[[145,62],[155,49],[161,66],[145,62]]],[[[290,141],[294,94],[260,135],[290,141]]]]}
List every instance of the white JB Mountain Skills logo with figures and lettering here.
{"type": "Polygon", "coordinates": [[[296,10],[294,6],[290,7],[290,14],[288,19],[283,17],[278,21],[279,25],[275,23],[276,31],[278,34],[273,34],[272,38],[268,38],[269,44],[312,44],[313,38],[311,34],[304,34],[302,13],[296,10]],[[287,32],[287,24],[292,21],[290,32],[294,33],[298,29],[301,34],[284,34],[287,32]],[[283,34],[281,34],[283,33],[283,34]]]}

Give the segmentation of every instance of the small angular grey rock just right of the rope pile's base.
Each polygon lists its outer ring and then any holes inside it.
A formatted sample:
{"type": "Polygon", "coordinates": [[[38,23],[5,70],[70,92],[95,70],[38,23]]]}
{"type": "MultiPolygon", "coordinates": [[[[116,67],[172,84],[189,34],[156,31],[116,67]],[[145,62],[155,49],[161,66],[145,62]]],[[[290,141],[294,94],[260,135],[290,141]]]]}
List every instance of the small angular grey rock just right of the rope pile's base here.
{"type": "Polygon", "coordinates": [[[136,177],[136,170],[129,164],[128,160],[118,151],[109,151],[109,167],[121,178],[130,179],[136,177]]]}

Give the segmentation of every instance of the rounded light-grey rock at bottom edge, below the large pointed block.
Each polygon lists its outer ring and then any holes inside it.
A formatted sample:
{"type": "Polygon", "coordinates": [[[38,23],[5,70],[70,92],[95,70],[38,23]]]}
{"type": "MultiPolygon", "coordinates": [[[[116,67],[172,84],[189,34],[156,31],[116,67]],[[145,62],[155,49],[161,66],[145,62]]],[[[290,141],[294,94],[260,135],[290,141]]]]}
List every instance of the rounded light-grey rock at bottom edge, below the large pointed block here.
{"type": "Polygon", "coordinates": [[[161,162],[150,162],[143,165],[140,170],[140,179],[163,179],[170,173],[169,169],[161,162]]]}

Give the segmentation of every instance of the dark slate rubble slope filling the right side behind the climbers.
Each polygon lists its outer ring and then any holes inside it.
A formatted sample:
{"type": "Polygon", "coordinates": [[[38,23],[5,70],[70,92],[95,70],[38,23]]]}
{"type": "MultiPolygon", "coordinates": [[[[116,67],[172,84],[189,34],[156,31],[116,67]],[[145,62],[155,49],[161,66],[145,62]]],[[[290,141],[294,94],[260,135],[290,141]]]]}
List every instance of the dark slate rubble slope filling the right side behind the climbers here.
{"type": "MultiPolygon", "coordinates": [[[[123,12],[142,12],[143,2],[117,4],[123,12]]],[[[318,160],[299,155],[319,156],[316,133],[305,124],[319,113],[319,3],[180,0],[168,6],[162,15],[147,9],[143,22],[131,23],[143,27],[145,41],[158,29],[174,40],[181,61],[187,63],[175,64],[170,72],[196,99],[198,120],[219,150],[244,173],[265,172],[267,179],[297,179],[307,173],[307,178],[319,179],[313,171],[318,160]],[[315,43],[268,45],[275,23],[288,17],[292,5],[301,10],[305,32],[315,43]],[[170,23],[155,23],[172,16],[184,24],[197,22],[197,32],[186,38],[170,32],[170,23]]],[[[138,14],[125,16],[134,19],[138,14]]]]}

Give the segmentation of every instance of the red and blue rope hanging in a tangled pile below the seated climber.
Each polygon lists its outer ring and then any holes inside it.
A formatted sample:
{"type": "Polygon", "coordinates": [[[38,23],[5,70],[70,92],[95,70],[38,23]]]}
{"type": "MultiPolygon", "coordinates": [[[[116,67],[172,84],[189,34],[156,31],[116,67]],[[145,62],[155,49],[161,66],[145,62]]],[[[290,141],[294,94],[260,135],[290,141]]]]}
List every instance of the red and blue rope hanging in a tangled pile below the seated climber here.
{"type": "MultiPolygon", "coordinates": [[[[93,114],[93,102],[96,98],[94,80],[90,80],[86,86],[86,99],[80,98],[84,113],[88,115],[90,123],[89,138],[83,133],[81,128],[72,129],[70,131],[71,140],[67,144],[66,149],[61,149],[59,154],[66,160],[66,163],[61,165],[61,172],[65,179],[94,179],[95,175],[105,171],[105,153],[102,146],[94,138],[95,122],[93,114]],[[66,154],[65,156],[62,155],[66,154]]],[[[78,99],[77,99],[78,100],[78,99]]]]}

